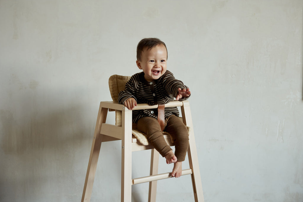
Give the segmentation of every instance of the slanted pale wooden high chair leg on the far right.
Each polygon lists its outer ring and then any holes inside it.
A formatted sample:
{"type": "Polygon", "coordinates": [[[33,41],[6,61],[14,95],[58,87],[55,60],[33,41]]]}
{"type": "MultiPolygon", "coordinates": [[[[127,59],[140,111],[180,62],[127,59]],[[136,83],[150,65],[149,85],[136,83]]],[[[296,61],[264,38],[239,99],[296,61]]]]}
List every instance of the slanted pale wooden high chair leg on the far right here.
{"type": "Polygon", "coordinates": [[[204,202],[201,176],[199,170],[198,163],[198,154],[195,143],[194,130],[191,119],[191,111],[188,102],[183,102],[183,106],[181,107],[181,113],[183,118],[183,123],[189,127],[191,127],[191,132],[189,133],[189,145],[188,145],[188,161],[189,167],[192,170],[191,181],[194,190],[195,202],[204,202]]]}

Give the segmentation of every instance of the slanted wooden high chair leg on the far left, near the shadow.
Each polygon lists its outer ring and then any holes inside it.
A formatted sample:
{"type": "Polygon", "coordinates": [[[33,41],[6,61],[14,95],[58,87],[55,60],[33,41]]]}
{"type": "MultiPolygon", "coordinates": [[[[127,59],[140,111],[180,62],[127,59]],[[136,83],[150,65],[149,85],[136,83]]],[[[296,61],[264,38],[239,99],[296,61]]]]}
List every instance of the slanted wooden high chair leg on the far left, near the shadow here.
{"type": "Polygon", "coordinates": [[[90,201],[91,195],[92,195],[92,187],[95,179],[95,173],[97,169],[97,163],[100,153],[100,147],[102,143],[102,137],[103,135],[100,134],[101,125],[102,123],[105,123],[106,116],[107,116],[107,108],[99,108],[98,111],[98,117],[97,117],[97,123],[95,127],[94,132],[94,139],[92,142],[92,149],[91,154],[88,161],[88,167],[85,177],[85,183],[83,188],[83,194],[82,194],[82,202],[84,201],[90,201]]]}

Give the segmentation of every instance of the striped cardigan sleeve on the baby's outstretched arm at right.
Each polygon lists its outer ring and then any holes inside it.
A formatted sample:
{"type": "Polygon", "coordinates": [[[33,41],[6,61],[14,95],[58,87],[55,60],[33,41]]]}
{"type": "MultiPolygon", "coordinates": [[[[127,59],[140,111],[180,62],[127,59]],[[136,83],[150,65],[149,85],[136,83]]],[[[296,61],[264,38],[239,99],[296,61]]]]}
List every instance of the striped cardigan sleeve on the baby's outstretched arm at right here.
{"type": "MultiPolygon", "coordinates": [[[[163,83],[164,83],[165,90],[169,94],[172,94],[174,96],[174,98],[177,97],[177,95],[178,95],[178,88],[181,88],[181,89],[188,88],[186,85],[183,84],[182,81],[176,79],[174,77],[173,73],[171,73],[170,71],[166,71],[166,76],[163,80],[163,83]]],[[[179,99],[179,101],[187,100],[189,97],[190,97],[190,95],[186,98],[179,99]]]]}

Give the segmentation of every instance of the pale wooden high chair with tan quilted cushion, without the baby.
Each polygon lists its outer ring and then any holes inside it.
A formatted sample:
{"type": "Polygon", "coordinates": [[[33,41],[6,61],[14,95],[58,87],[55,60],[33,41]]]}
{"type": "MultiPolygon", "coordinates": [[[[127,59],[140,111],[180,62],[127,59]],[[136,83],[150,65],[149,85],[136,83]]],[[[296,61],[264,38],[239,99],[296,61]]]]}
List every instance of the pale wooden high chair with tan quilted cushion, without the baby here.
{"type": "MultiPolygon", "coordinates": [[[[92,142],[91,154],[88,161],[88,168],[82,194],[82,202],[90,201],[92,186],[94,183],[98,157],[102,142],[122,140],[122,170],[121,170],[121,201],[131,202],[132,185],[149,182],[148,201],[156,201],[157,180],[170,178],[171,173],[158,174],[159,153],[147,141],[147,138],[140,131],[135,130],[132,124],[132,110],[128,110],[123,104],[118,104],[118,93],[124,90],[125,83],[129,80],[128,76],[112,75],[108,84],[114,102],[100,102],[95,133],[92,142]],[[116,124],[106,124],[108,111],[116,111],[116,124]],[[131,135],[132,134],[132,135],[131,135]],[[150,176],[132,179],[132,151],[142,151],[151,149],[151,168],[150,176]]],[[[203,191],[198,164],[198,156],[195,145],[195,136],[192,127],[191,111],[188,101],[172,101],[165,104],[165,107],[181,107],[183,123],[189,129],[188,161],[189,169],[182,170],[182,175],[191,174],[192,186],[195,201],[203,202],[203,191]]],[[[137,104],[134,110],[154,109],[158,105],[137,104]]],[[[173,146],[169,134],[164,137],[168,145],[173,146]]],[[[181,180],[180,178],[179,180],[181,180]]]]}

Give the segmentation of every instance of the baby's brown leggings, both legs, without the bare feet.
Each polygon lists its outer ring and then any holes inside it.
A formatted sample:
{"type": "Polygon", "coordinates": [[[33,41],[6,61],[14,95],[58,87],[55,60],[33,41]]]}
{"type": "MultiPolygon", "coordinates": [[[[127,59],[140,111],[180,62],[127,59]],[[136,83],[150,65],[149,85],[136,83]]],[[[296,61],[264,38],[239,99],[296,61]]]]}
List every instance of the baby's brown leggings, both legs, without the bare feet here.
{"type": "MultiPolygon", "coordinates": [[[[158,120],[143,117],[138,121],[138,130],[147,135],[148,141],[164,157],[172,149],[167,145],[158,120]]],[[[177,161],[184,161],[188,149],[188,130],[182,120],[175,115],[165,119],[164,131],[168,132],[175,141],[175,156],[177,161]]]]}

